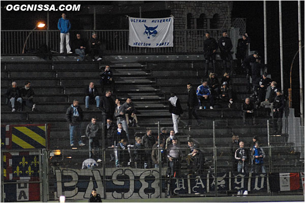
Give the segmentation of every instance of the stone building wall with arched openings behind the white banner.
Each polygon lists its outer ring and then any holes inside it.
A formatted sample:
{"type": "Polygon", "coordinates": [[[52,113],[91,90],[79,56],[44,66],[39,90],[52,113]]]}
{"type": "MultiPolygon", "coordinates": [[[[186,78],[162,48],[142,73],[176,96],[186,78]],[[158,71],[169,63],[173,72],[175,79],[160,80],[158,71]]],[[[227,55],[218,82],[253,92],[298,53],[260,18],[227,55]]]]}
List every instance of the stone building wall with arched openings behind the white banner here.
{"type": "Polygon", "coordinates": [[[231,27],[232,1],[169,1],[171,14],[175,17],[174,29],[222,29],[231,27]],[[229,12],[229,13],[228,13],[229,12]],[[187,15],[191,13],[190,25],[187,15]],[[200,19],[200,15],[203,18],[200,19]],[[218,14],[216,20],[213,19],[218,14]],[[197,26],[198,24],[198,26],[197,26]]]}

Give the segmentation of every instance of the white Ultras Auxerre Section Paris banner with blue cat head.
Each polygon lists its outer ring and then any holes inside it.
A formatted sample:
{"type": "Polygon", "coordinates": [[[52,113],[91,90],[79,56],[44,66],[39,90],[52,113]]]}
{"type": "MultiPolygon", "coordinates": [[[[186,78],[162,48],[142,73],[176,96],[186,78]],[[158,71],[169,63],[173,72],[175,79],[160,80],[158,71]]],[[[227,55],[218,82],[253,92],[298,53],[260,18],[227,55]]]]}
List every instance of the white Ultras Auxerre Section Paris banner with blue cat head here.
{"type": "Polygon", "coordinates": [[[129,46],[173,47],[174,18],[129,17],[129,46]]]}

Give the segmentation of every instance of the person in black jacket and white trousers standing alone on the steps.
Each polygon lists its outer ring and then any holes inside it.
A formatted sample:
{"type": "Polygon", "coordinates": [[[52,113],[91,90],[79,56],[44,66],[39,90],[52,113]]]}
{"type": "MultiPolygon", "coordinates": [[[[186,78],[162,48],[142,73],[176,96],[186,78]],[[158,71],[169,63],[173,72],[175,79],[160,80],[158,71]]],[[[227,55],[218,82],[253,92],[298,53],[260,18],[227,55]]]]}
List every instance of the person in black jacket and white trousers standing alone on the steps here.
{"type": "Polygon", "coordinates": [[[170,98],[168,99],[169,101],[169,113],[172,115],[173,119],[173,124],[174,124],[174,130],[175,133],[178,133],[178,118],[181,114],[183,114],[183,110],[180,104],[180,100],[176,96],[174,92],[170,94],[170,98]]]}

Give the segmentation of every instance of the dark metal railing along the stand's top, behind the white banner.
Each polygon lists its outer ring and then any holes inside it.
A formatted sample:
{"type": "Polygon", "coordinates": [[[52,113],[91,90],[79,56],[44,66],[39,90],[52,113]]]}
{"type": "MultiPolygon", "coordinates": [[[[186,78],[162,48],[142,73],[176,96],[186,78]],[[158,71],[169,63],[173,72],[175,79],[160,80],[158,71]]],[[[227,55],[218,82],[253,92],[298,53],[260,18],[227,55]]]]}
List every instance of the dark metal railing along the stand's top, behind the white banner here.
{"type": "MultiPolygon", "coordinates": [[[[229,37],[232,40],[235,52],[239,28],[232,28],[229,37]]],[[[27,35],[32,30],[1,30],[1,53],[21,54],[27,35]]],[[[174,30],[174,46],[167,48],[141,48],[130,47],[129,30],[71,30],[70,44],[73,43],[76,33],[80,33],[83,39],[88,40],[93,31],[101,39],[104,53],[137,54],[137,53],[196,53],[203,51],[205,31],[209,31],[212,38],[218,40],[222,36],[221,29],[185,29],[174,30]]],[[[42,44],[48,44],[51,50],[59,52],[60,32],[58,30],[34,30],[26,43],[28,53],[38,49],[42,44]]]]}

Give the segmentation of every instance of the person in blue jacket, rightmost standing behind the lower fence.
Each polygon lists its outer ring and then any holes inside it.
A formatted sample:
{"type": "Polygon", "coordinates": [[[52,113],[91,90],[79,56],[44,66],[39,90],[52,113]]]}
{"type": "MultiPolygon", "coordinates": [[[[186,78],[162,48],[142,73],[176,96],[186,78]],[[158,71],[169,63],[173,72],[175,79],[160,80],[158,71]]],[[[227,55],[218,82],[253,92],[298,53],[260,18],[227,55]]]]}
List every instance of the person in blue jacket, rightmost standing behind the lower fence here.
{"type": "Polygon", "coordinates": [[[253,157],[254,169],[251,168],[251,173],[266,173],[264,166],[265,152],[259,147],[259,143],[256,142],[252,148],[251,155],[253,157]]]}

